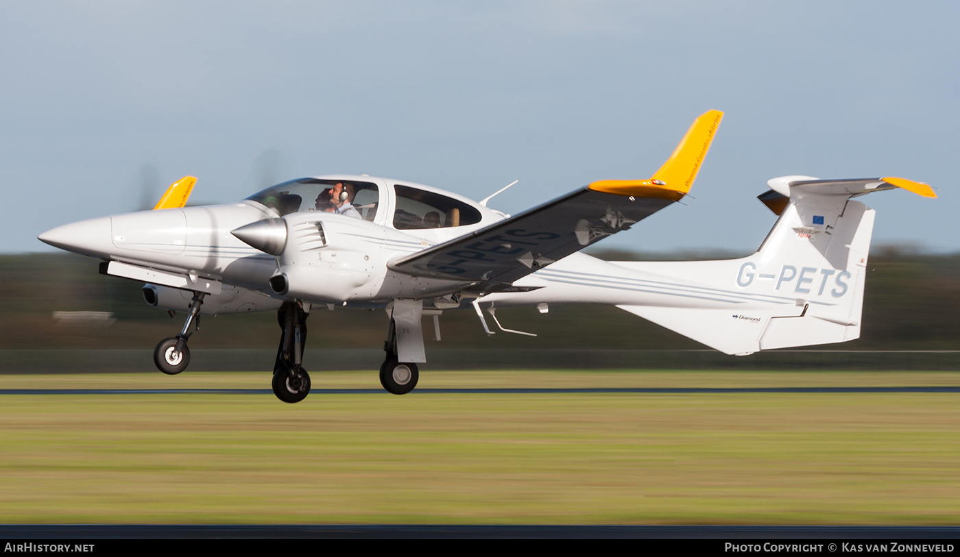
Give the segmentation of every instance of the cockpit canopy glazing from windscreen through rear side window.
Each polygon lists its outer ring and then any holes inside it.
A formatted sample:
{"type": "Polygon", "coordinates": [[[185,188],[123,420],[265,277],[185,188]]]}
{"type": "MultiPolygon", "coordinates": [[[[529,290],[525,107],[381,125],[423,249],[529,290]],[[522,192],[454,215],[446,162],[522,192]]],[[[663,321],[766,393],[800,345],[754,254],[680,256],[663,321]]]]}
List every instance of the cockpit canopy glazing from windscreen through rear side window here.
{"type": "Polygon", "coordinates": [[[464,226],[482,219],[480,211],[465,201],[396,183],[392,185],[396,201],[388,209],[390,204],[380,185],[355,179],[300,178],[271,186],[247,198],[276,211],[279,217],[301,211],[333,212],[330,191],[337,184],[343,184],[339,189],[348,192],[348,202],[362,219],[390,222],[397,230],[464,226]],[[378,218],[383,210],[391,210],[393,214],[378,218]]]}

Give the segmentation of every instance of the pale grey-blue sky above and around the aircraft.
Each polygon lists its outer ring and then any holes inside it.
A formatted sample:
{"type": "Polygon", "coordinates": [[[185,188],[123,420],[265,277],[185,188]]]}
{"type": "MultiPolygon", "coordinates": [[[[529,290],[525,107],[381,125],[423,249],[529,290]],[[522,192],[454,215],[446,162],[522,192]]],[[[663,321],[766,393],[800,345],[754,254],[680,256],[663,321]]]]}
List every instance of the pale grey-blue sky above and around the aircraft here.
{"type": "MultiPolygon", "coordinates": [[[[726,112],[688,206],[599,246],[750,251],[784,174],[938,189],[863,200],[875,244],[960,251],[954,2],[5,2],[0,252],[182,175],[228,202],[373,174],[518,212],[648,177],[726,112]]],[[[149,199],[145,201],[144,198],[149,199]]]]}

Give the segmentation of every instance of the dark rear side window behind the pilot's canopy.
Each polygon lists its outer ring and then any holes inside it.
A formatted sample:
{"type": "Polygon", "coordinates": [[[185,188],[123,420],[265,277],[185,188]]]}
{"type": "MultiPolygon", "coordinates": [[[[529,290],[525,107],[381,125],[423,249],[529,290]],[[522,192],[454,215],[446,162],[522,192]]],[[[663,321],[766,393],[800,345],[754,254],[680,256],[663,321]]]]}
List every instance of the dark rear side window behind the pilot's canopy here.
{"type": "Polygon", "coordinates": [[[475,224],[480,211],[452,197],[395,184],[394,228],[414,230],[475,224]]]}

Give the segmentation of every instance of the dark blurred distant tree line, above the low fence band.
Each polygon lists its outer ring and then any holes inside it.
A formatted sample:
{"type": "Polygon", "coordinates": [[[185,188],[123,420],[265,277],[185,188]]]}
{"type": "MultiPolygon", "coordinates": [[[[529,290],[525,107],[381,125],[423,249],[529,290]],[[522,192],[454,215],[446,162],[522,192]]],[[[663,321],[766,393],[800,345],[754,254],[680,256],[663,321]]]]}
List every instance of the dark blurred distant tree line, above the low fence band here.
{"type": "MultiPolygon", "coordinates": [[[[608,259],[646,259],[629,252],[596,252],[608,259]]],[[[699,254],[708,258],[710,254],[699,254]]],[[[876,250],[870,258],[861,337],[832,345],[847,350],[960,349],[960,254],[920,255],[876,250]]],[[[71,254],[0,255],[0,349],[152,348],[180,332],[148,306],[140,283],[98,273],[98,262],[71,254]],[[112,322],[64,323],[55,312],[109,312],[112,322]]],[[[697,342],[609,306],[552,305],[497,312],[505,327],[538,337],[486,337],[475,313],[441,317],[443,348],[695,349],[697,342]]],[[[387,331],[383,311],[314,311],[309,348],[379,348],[387,331]]],[[[432,327],[424,322],[428,349],[432,327]]],[[[194,348],[276,348],[274,313],[204,317],[194,348]]]]}

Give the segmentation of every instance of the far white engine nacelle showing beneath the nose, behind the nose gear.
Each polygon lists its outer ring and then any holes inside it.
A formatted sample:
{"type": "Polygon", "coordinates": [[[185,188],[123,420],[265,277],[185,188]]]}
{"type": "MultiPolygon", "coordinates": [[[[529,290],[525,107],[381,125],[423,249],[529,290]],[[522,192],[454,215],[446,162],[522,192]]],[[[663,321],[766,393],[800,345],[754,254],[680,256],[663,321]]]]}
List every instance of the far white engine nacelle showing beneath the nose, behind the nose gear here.
{"type": "MultiPolygon", "coordinates": [[[[155,308],[187,312],[190,309],[190,301],[193,299],[193,291],[148,283],[143,285],[143,299],[155,308]]],[[[200,314],[266,312],[278,309],[282,303],[283,300],[255,290],[224,285],[219,294],[204,296],[204,305],[200,307],[200,314]]]]}

